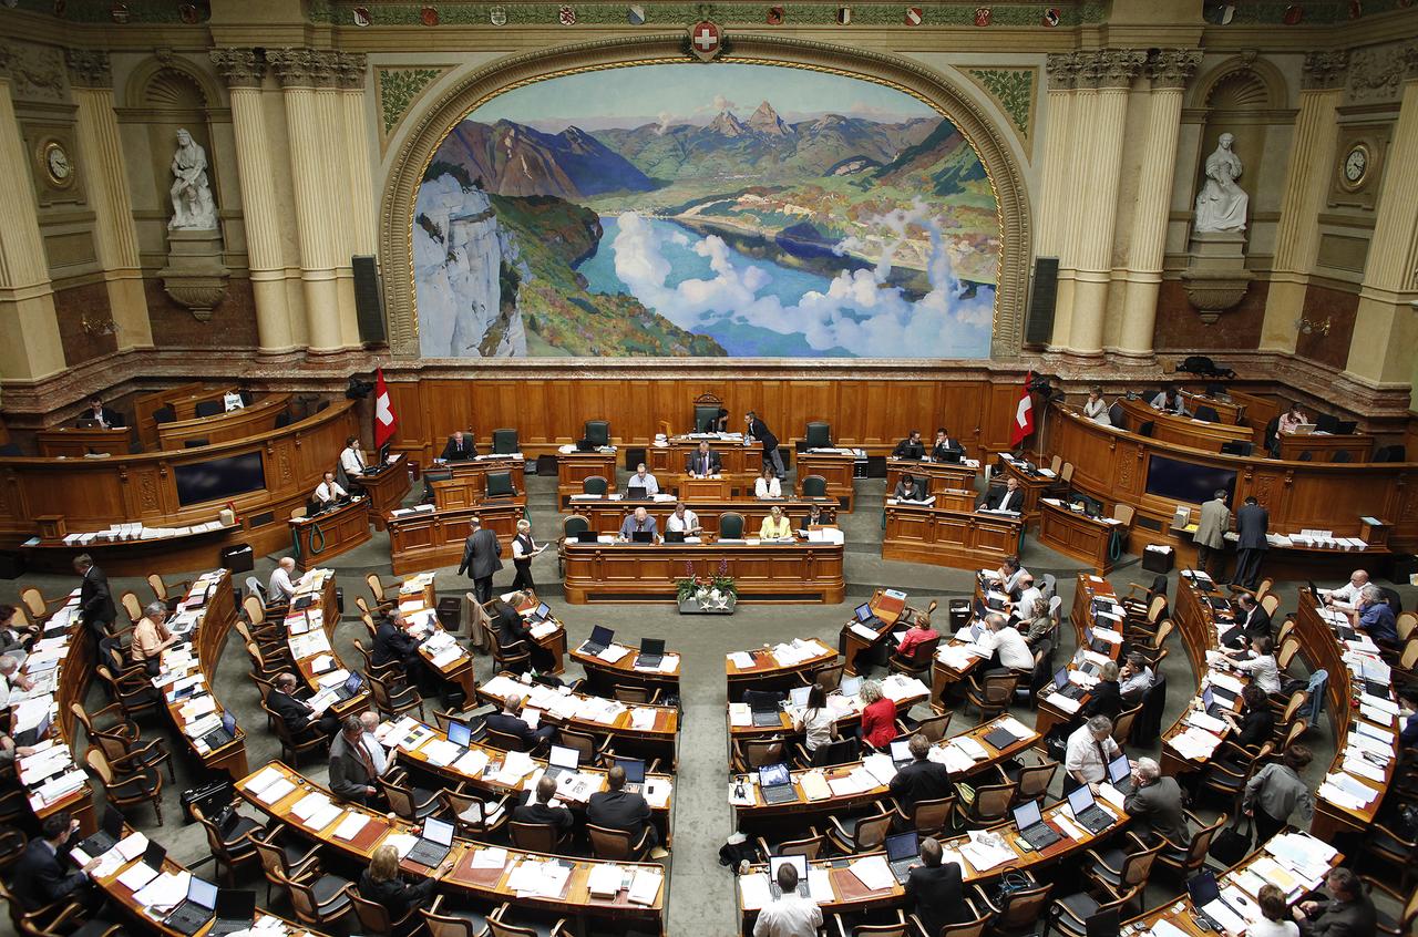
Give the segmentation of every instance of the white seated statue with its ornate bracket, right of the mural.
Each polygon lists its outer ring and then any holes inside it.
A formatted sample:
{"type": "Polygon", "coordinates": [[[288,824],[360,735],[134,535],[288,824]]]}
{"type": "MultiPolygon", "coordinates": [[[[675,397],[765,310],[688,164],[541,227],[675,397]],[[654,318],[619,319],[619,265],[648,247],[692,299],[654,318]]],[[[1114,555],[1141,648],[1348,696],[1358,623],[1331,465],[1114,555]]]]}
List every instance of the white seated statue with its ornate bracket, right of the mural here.
{"type": "Polygon", "coordinates": [[[1191,262],[1181,274],[1187,299],[1207,325],[1239,305],[1254,279],[1245,268],[1245,213],[1251,197],[1236,184],[1242,164],[1231,149],[1234,140],[1222,133],[1207,157],[1207,181],[1197,194],[1191,225],[1191,262]]]}

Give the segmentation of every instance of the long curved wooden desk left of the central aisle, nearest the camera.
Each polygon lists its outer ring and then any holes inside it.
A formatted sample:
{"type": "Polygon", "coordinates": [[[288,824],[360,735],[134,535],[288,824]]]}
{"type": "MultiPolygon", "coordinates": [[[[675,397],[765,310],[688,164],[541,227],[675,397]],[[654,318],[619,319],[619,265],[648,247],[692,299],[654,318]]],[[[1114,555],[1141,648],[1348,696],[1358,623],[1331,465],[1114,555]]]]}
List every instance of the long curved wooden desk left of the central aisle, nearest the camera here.
{"type": "MultiPolygon", "coordinates": [[[[389,815],[376,814],[374,811],[363,807],[335,801],[329,790],[305,778],[302,774],[279,761],[272,761],[265,768],[261,768],[250,777],[238,781],[237,794],[271,819],[281,821],[311,842],[316,842],[336,851],[349,865],[360,869],[369,866],[369,860],[374,855],[374,851],[384,845],[391,835],[407,835],[414,838],[418,835],[417,826],[408,821],[397,817],[390,818],[389,815]],[[295,785],[295,790],[275,799],[274,804],[262,801],[261,797],[254,792],[252,784],[258,782],[258,778],[262,777],[264,771],[279,773],[284,780],[295,785]],[[295,805],[311,794],[323,795],[330,801],[335,801],[335,804],[340,808],[340,814],[322,826],[313,826],[301,819],[301,817],[295,812],[295,805]],[[364,826],[354,835],[353,839],[342,839],[336,835],[336,831],[350,815],[363,817],[366,819],[364,826]]],[[[659,892],[657,893],[652,904],[631,904],[624,889],[618,892],[614,899],[591,897],[587,889],[587,877],[594,868],[605,865],[596,859],[574,859],[567,856],[552,856],[545,853],[522,852],[518,849],[505,849],[508,865],[503,868],[475,868],[474,856],[479,851],[488,848],[493,846],[484,846],[482,843],[474,843],[465,839],[454,839],[452,851],[440,868],[430,869],[428,866],[406,858],[400,860],[400,870],[411,876],[431,877],[437,882],[440,892],[459,894],[478,902],[486,902],[491,904],[509,902],[519,909],[547,911],[566,917],[593,916],[605,920],[624,920],[627,924],[651,927],[655,933],[664,933],[665,889],[669,883],[668,877],[661,882],[659,892]],[[525,858],[536,860],[556,860],[570,863],[573,866],[571,877],[559,897],[522,896],[509,886],[509,876],[513,863],[520,862],[525,858]]],[[[654,863],[617,862],[615,865],[630,870],[651,869],[664,872],[661,866],[654,863]]]]}

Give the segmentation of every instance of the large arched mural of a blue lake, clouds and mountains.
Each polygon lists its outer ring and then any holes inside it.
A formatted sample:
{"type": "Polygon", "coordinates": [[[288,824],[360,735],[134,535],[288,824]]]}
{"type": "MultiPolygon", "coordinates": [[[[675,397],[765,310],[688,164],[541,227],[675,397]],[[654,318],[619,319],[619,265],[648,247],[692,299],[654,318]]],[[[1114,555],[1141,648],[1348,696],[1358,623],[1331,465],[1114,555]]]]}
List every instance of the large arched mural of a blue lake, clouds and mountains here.
{"type": "MultiPolygon", "coordinates": [[[[467,106],[467,105],[465,105],[467,106]]],[[[418,183],[425,357],[988,357],[995,190],[956,122],[786,64],[484,99],[418,183]]]]}

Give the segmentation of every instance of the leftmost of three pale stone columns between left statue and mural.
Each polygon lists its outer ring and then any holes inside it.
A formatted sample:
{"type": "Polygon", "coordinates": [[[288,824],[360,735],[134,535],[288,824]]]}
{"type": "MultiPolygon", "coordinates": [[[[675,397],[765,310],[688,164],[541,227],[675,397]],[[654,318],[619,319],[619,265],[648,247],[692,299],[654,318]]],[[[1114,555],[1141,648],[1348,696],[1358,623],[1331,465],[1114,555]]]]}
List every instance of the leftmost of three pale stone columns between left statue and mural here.
{"type": "Polygon", "coordinates": [[[261,103],[265,61],[251,48],[214,48],[210,55],[231,95],[231,132],[237,140],[237,172],[241,174],[241,224],[247,234],[247,269],[257,303],[257,342],[264,354],[294,352],[299,346],[291,327],[281,251],[285,208],[275,196],[275,170],[261,103]]]}

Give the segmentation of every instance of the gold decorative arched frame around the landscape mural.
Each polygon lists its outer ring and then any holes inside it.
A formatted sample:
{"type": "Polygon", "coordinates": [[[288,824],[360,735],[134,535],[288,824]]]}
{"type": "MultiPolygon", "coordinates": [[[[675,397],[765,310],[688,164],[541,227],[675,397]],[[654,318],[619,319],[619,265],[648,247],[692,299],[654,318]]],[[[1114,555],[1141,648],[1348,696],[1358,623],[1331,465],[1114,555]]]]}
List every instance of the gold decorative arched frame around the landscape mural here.
{"type": "MultiPolygon", "coordinates": [[[[506,91],[557,75],[683,62],[683,35],[623,37],[537,50],[485,65],[454,86],[411,109],[410,129],[398,145],[380,198],[379,255],[384,269],[384,308],[389,310],[390,350],[401,359],[420,357],[418,309],[413,284],[413,211],[418,184],[448,132],[488,99],[506,91]]],[[[1032,249],[1032,217],[1028,190],[1018,162],[998,123],[974,96],[946,75],[893,55],[781,35],[735,33],[732,54],[722,62],[787,65],[875,81],[949,116],[970,142],[995,194],[1000,220],[1000,266],[995,288],[991,359],[1017,357],[1024,340],[1024,309],[1032,249]]],[[[713,68],[715,65],[705,65],[713,68]]],[[[713,359],[716,366],[746,359],[713,359]]],[[[784,364],[807,360],[781,359],[784,364]]],[[[641,359],[637,359],[641,361],[641,359]]],[[[654,359],[645,359],[654,361],[654,359]]],[[[752,359],[767,364],[773,359],[752,359]]],[[[560,367],[601,363],[601,359],[560,359],[560,367]]],[[[871,359],[849,359],[844,369],[859,369],[871,359]]],[[[467,363],[465,363],[467,364],[467,363]]],[[[685,363],[676,359],[676,367],[685,363]]],[[[537,367],[536,359],[498,359],[499,369],[537,367]]],[[[814,363],[814,370],[820,370],[814,363]]]]}

